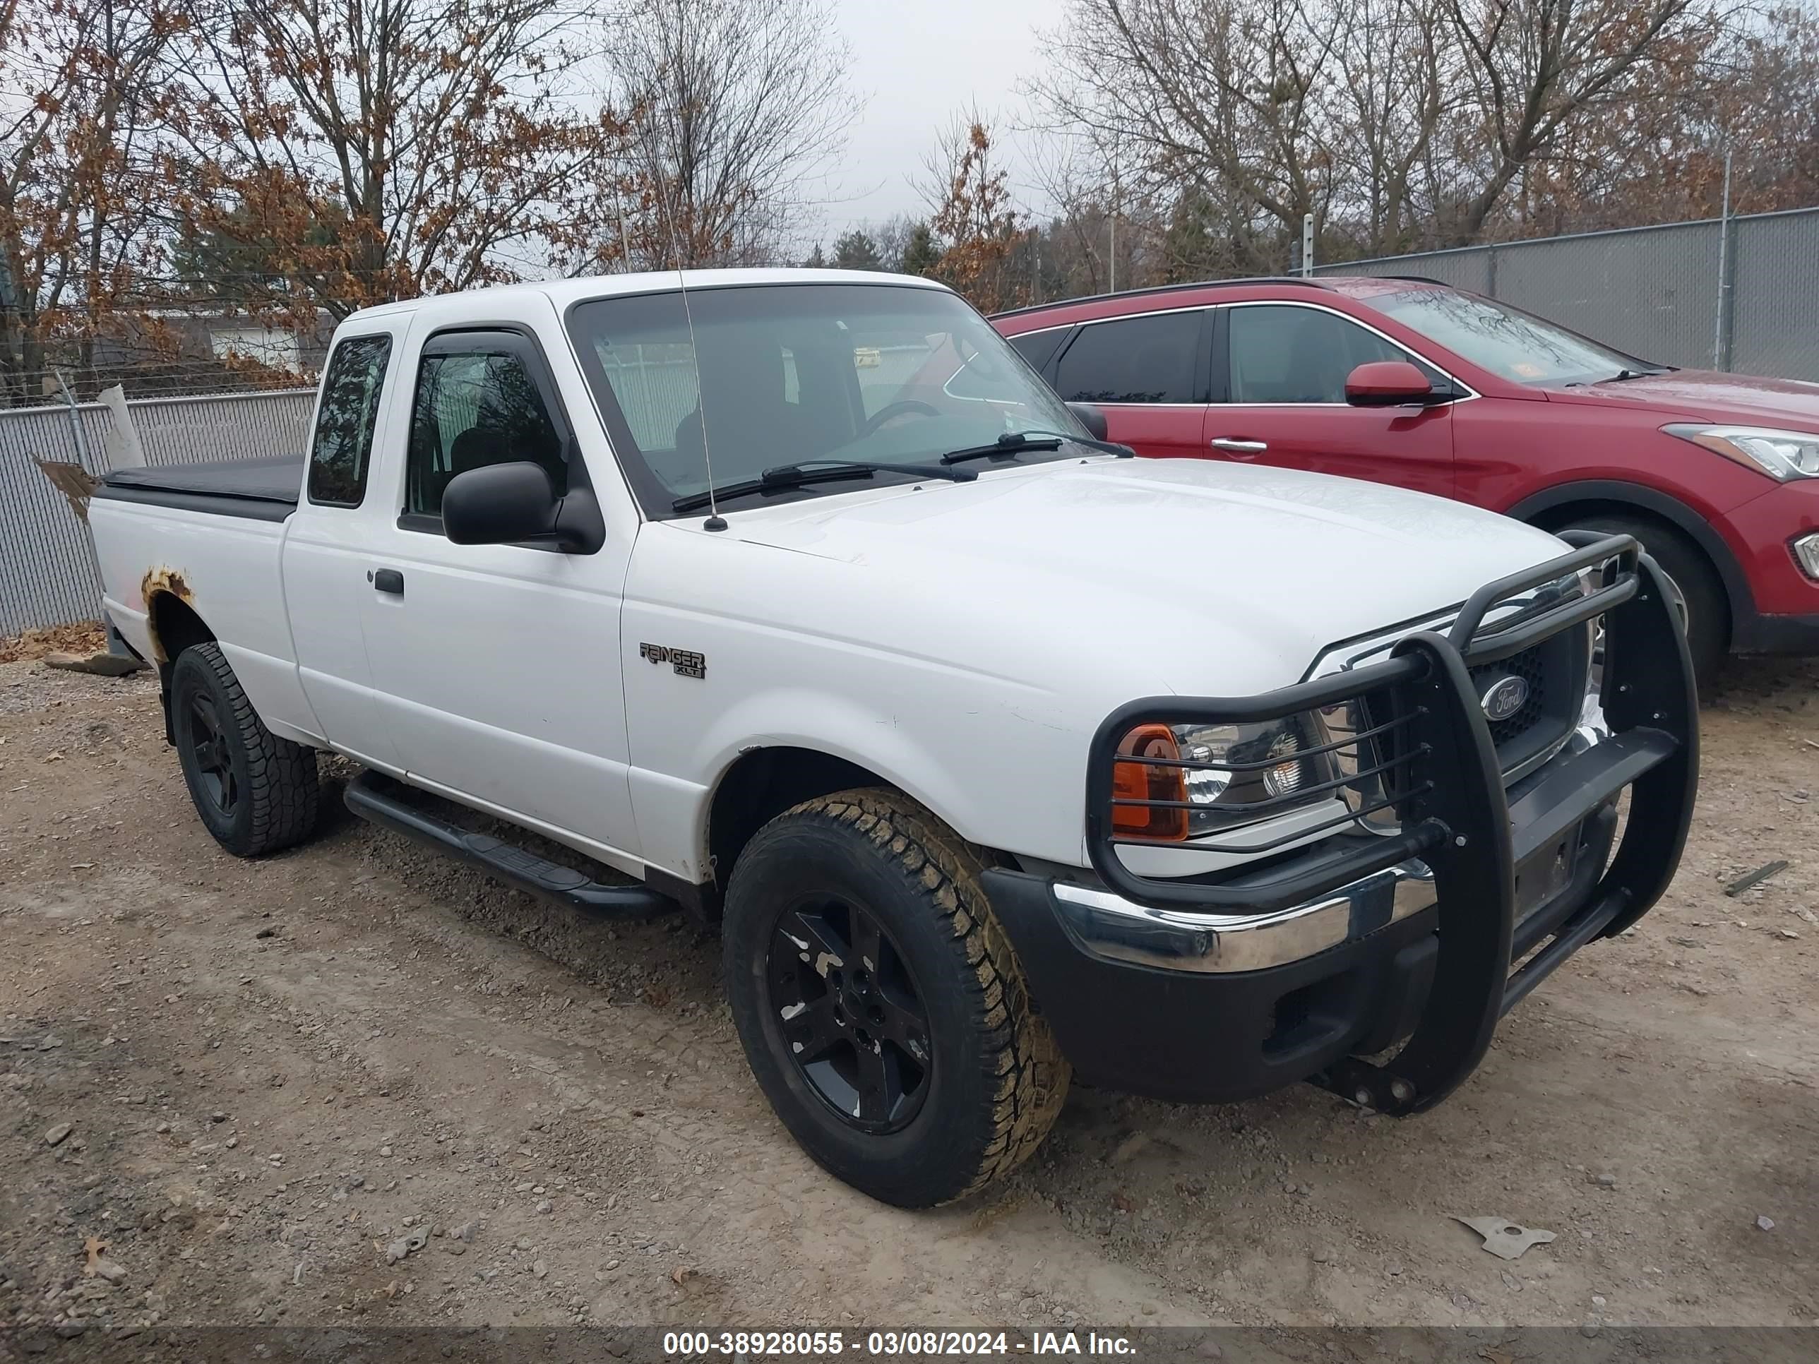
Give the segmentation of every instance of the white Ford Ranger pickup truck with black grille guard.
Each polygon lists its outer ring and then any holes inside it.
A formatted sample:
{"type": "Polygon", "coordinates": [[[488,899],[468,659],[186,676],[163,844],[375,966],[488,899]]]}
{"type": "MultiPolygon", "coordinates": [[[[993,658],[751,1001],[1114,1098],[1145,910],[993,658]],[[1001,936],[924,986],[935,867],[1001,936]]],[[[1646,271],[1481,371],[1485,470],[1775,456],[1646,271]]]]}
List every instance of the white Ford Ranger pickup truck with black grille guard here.
{"type": "Polygon", "coordinates": [[[1648,911],[1697,787],[1632,540],[1095,416],[926,280],[515,286],[357,313],[307,458],[115,473],[91,522],[224,847],[306,838],[335,751],[500,880],[719,920],[782,1122],[928,1206],[1070,1077],[1439,1102],[1648,911]]]}

